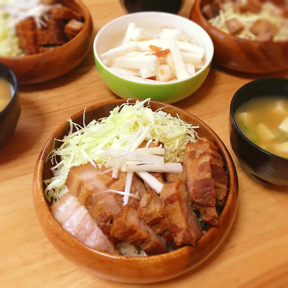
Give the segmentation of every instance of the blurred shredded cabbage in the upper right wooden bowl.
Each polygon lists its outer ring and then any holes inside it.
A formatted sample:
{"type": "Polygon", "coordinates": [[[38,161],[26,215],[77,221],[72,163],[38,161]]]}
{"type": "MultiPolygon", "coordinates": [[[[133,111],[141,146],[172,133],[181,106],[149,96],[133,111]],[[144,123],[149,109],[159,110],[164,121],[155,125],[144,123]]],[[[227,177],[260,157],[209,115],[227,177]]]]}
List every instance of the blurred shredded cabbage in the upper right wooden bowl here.
{"type": "Polygon", "coordinates": [[[267,1],[263,3],[262,10],[257,14],[251,12],[242,14],[235,13],[233,10],[233,2],[223,3],[223,10],[220,10],[219,15],[210,19],[209,22],[216,28],[229,34],[225,22],[233,18],[238,19],[245,26],[237,37],[255,40],[256,36],[250,32],[250,28],[257,20],[265,19],[279,27],[279,32],[274,36],[274,41],[288,40],[288,18],[281,17],[279,7],[271,2],[267,1]]]}

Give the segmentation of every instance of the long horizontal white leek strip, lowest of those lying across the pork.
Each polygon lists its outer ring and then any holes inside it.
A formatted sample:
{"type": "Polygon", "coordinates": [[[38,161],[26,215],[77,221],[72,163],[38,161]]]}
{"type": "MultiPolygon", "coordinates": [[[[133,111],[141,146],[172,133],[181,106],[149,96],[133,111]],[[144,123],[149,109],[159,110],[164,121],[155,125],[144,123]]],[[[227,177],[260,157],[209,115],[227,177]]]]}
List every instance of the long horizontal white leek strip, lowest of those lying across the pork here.
{"type": "Polygon", "coordinates": [[[121,169],[123,172],[167,172],[181,173],[181,163],[164,163],[164,164],[141,164],[141,165],[126,165],[121,169]]]}

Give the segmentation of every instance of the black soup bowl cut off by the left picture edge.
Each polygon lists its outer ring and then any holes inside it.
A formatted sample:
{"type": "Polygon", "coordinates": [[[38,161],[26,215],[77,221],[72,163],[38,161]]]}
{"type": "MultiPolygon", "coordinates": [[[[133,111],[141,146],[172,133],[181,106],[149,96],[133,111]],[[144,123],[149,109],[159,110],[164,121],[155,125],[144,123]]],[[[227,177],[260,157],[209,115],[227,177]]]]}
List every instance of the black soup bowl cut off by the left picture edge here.
{"type": "Polygon", "coordinates": [[[7,106],[0,112],[0,149],[14,133],[20,116],[20,100],[18,93],[18,81],[14,72],[0,63],[0,78],[7,80],[12,88],[13,95],[7,106]]]}

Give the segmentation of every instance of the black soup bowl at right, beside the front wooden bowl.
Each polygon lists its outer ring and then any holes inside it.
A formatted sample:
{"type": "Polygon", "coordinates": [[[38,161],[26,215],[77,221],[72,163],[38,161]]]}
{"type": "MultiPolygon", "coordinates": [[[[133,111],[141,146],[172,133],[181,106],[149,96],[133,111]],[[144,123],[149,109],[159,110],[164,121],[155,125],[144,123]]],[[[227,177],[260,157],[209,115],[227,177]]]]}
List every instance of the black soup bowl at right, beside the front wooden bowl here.
{"type": "Polygon", "coordinates": [[[266,182],[288,186],[288,159],[273,155],[250,141],[237,125],[234,114],[244,102],[257,96],[285,96],[288,98],[288,79],[269,78],[242,86],[230,104],[230,143],[244,168],[266,182]]]}

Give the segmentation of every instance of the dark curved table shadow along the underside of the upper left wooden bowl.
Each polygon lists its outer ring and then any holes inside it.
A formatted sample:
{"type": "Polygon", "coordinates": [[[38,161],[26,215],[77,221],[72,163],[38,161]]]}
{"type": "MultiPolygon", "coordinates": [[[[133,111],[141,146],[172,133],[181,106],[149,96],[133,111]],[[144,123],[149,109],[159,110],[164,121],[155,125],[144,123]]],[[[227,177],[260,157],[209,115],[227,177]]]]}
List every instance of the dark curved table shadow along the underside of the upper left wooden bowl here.
{"type": "MultiPolygon", "coordinates": [[[[97,33],[98,32],[96,31],[93,32],[93,39],[95,38],[97,33]]],[[[85,76],[86,73],[88,73],[93,68],[95,68],[95,62],[93,54],[93,45],[91,45],[87,56],[73,70],[69,71],[68,73],[58,78],[49,80],[44,83],[39,83],[35,85],[21,85],[19,87],[19,91],[20,92],[45,91],[53,88],[62,87],[64,85],[76,81],[77,79],[82,78],[83,76],[85,76]]]]}

